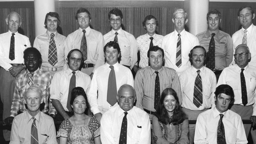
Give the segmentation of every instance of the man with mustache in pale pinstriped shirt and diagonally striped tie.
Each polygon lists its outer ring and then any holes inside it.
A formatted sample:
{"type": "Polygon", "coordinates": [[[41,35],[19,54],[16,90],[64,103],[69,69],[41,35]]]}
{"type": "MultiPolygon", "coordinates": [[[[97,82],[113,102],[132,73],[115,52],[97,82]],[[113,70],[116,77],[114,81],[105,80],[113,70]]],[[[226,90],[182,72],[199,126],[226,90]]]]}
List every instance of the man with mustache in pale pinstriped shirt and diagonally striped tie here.
{"type": "MultiPolygon", "coordinates": [[[[195,46],[189,53],[192,66],[180,75],[182,110],[189,120],[196,120],[198,114],[210,109],[214,104],[216,76],[204,66],[206,50],[195,46]]],[[[195,124],[189,124],[189,143],[193,144],[195,124]]]]}

